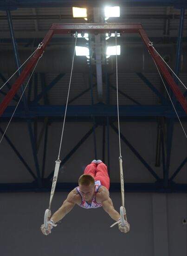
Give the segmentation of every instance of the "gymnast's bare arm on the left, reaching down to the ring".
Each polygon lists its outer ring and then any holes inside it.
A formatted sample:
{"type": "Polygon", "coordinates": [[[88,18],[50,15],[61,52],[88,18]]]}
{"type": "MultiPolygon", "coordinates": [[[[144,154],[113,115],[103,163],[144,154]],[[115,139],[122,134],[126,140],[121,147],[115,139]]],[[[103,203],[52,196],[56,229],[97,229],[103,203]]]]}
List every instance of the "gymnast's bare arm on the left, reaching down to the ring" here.
{"type": "Polygon", "coordinates": [[[77,203],[77,195],[74,189],[69,193],[62,206],[52,215],[51,220],[56,223],[64,218],[77,203]]]}

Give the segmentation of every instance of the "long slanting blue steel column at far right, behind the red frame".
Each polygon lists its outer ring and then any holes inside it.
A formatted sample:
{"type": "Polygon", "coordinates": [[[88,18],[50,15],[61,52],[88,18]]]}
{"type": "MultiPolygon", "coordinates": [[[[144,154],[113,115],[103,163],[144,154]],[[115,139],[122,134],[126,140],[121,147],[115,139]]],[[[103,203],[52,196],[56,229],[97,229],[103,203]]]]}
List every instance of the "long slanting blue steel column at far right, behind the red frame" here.
{"type": "MultiPolygon", "coordinates": [[[[183,35],[183,27],[184,27],[184,14],[185,8],[181,8],[181,18],[179,24],[179,36],[177,42],[177,51],[176,51],[176,63],[175,63],[175,74],[179,76],[180,70],[180,63],[181,63],[181,48],[182,48],[182,35],[183,35]]],[[[178,79],[176,76],[174,77],[176,83],[178,83],[178,79]]],[[[173,103],[176,106],[176,98],[173,98],[173,103]]],[[[173,131],[174,131],[174,117],[171,117],[168,120],[168,134],[167,134],[167,159],[166,159],[166,172],[164,177],[164,184],[167,188],[168,186],[168,177],[169,177],[169,167],[170,167],[170,158],[171,158],[171,148],[172,148],[172,138],[173,138],[173,131]]]]}

